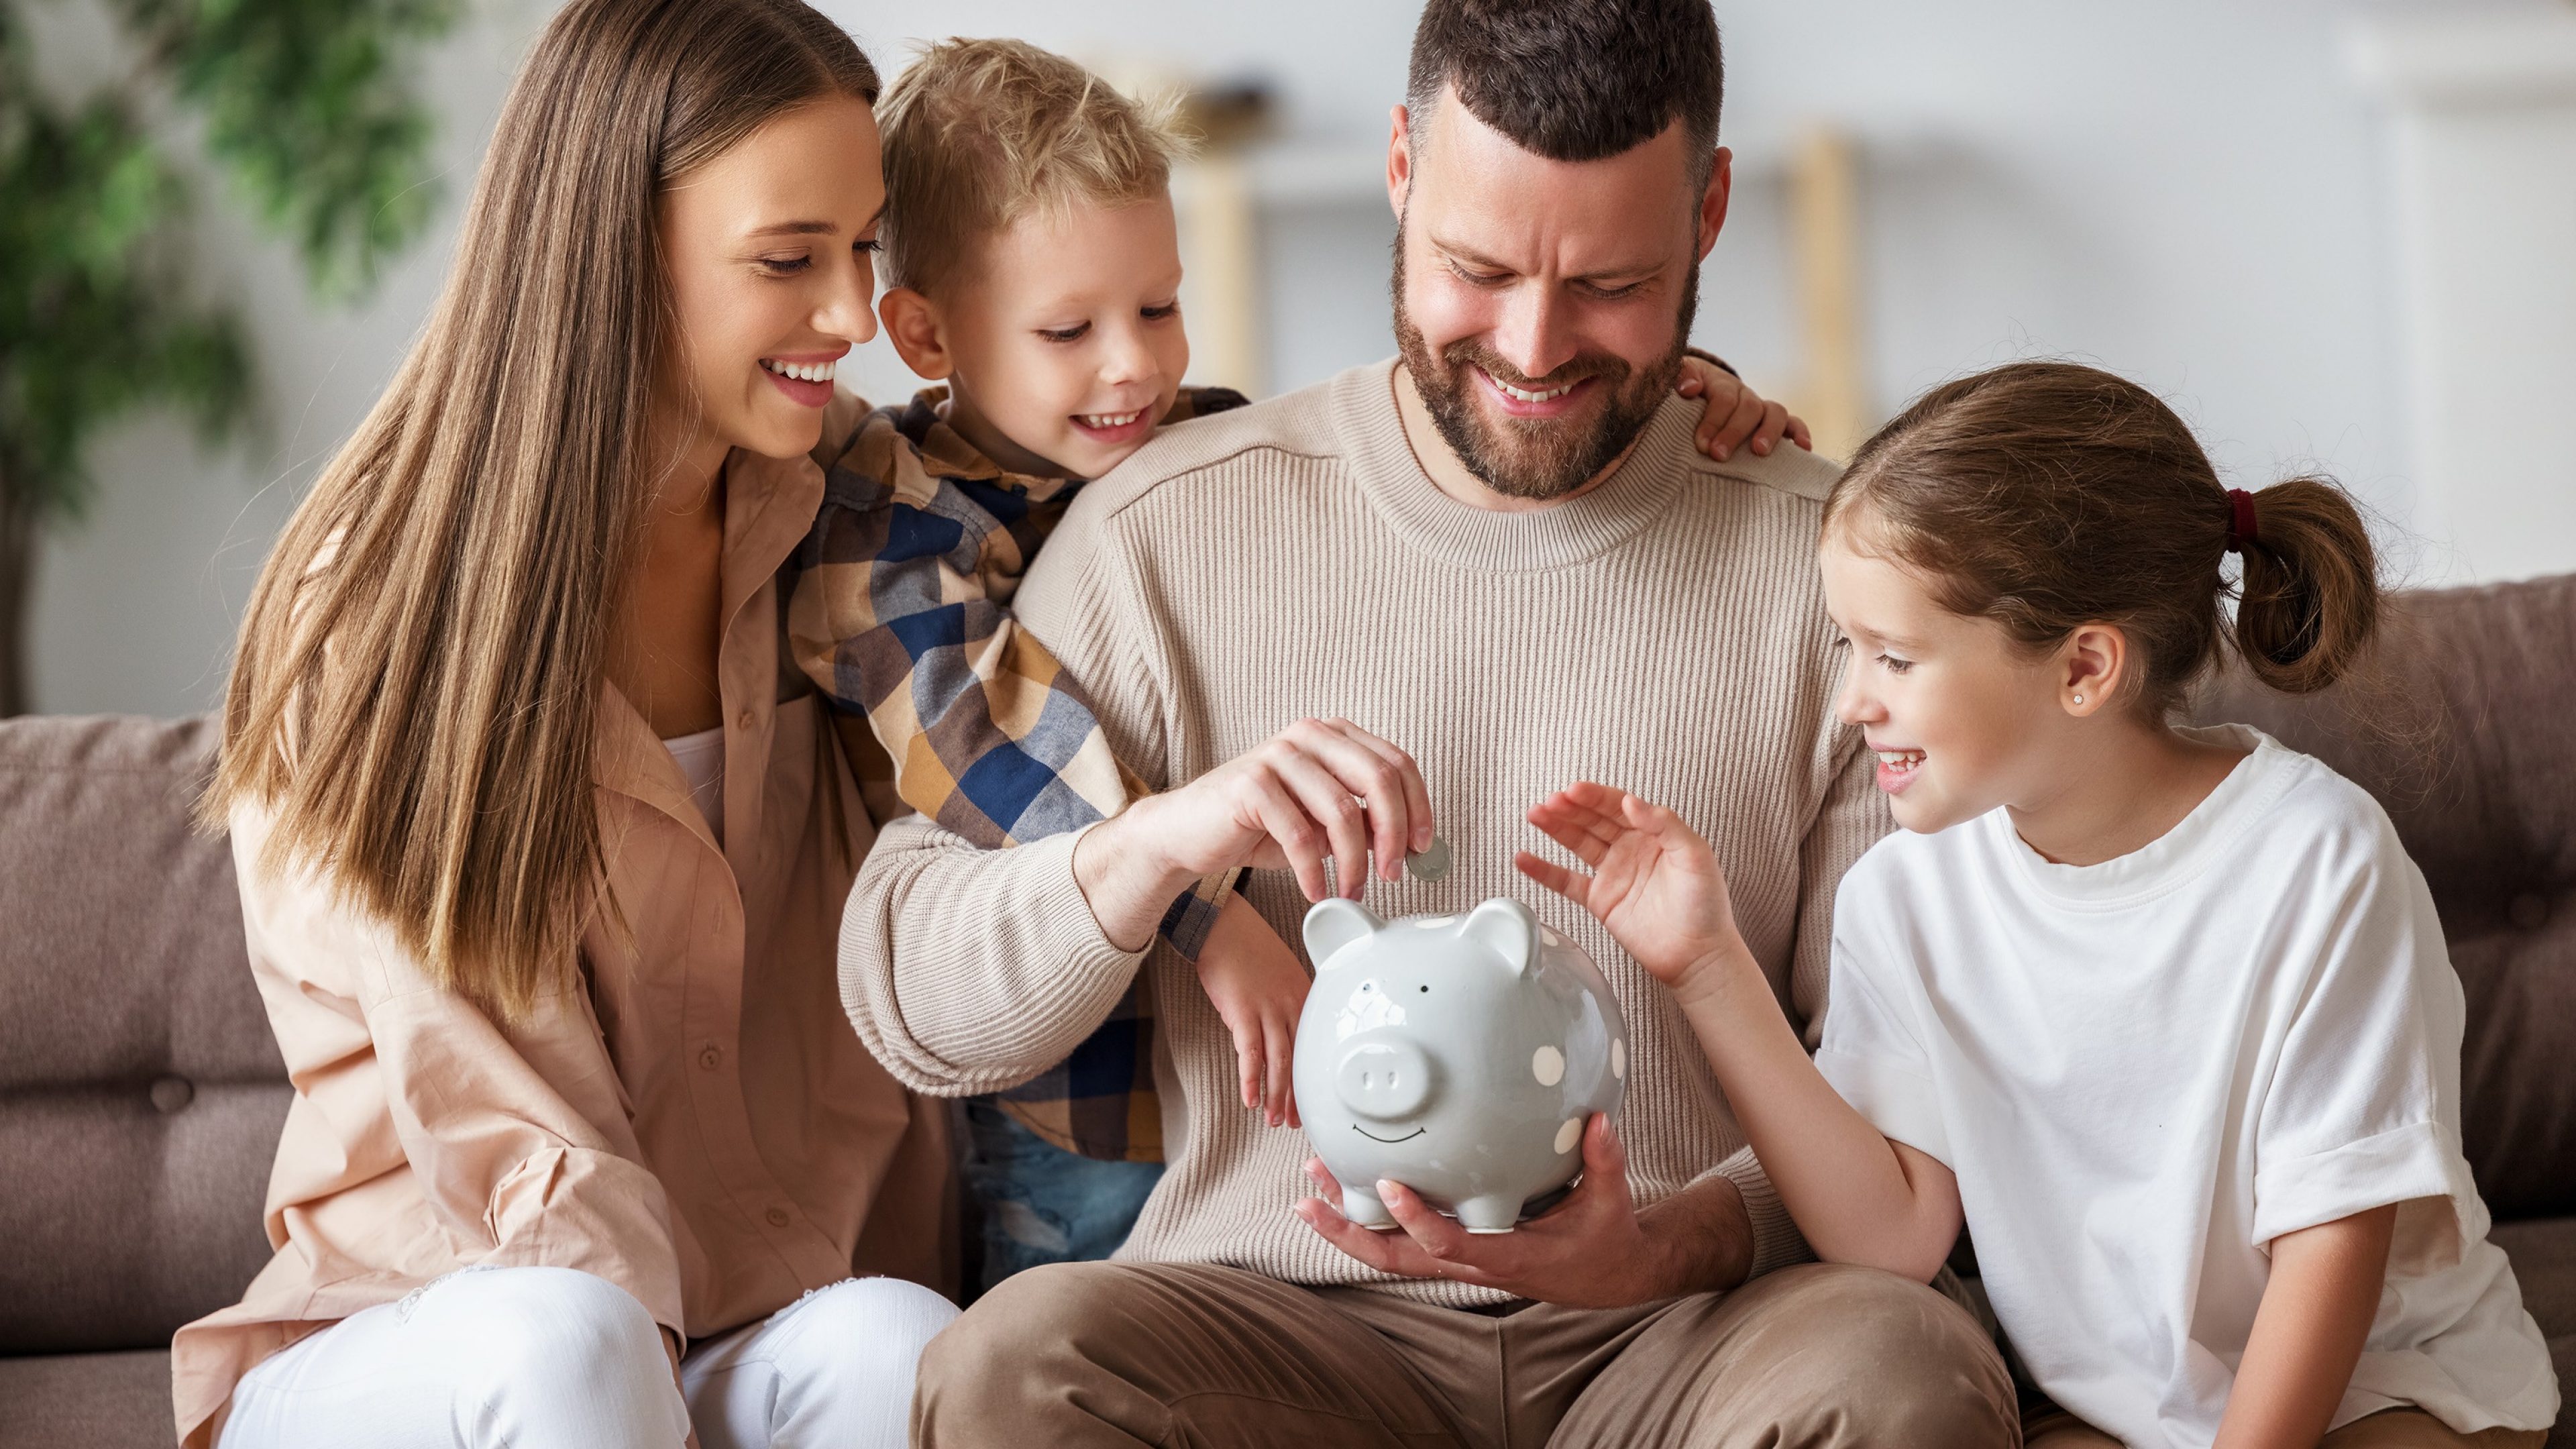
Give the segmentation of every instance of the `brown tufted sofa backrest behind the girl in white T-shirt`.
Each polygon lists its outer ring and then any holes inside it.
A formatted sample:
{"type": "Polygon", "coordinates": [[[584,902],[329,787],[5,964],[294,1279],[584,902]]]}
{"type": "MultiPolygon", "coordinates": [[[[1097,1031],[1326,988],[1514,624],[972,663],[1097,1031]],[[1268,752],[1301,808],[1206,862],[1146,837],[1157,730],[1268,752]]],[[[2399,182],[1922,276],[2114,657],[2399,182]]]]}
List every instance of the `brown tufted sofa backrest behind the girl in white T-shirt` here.
{"type": "Polygon", "coordinates": [[[2424,869],[2468,993],[2463,1132],[2496,1217],[2576,1214],[2576,575],[2396,596],[2375,678],[2239,719],[2375,794],[2424,869]]]}

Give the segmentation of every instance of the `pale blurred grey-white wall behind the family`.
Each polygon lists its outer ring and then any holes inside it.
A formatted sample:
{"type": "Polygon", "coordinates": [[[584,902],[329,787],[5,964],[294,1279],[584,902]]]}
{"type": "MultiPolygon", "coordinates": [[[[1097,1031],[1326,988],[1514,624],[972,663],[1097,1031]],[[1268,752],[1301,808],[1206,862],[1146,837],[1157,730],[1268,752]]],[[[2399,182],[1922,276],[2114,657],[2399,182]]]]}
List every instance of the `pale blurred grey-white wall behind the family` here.
{"type": "MultiPolygon", "coordinates": [[[[77,70],[95,49],[77,8],[95,0],[62,3],[57,46],[77,70]]],[[[1378,165],[1417,5],[827,0],[824,10],[889,72],[922,36],[1018,34],[1126,77],[1257,83],[1273,101],[1265,137],[1185,180],[1193,286],[1206,276],[1224,286],[1190,297],[1198,379],[1280,392],[1394,351],[1394,224],[1378,165]]],[[[201,454],[183,425],[142,420],[93,454],[98,500],[52,536],[39,572],[39,709],[214,704],[250,578],[425,317],[510,70],[549,13],[546,0],[469,0],[430,57],[422,93],[440,111],[443,211],[363,307],[314,304],[286,250],[206,186],[201,271],[252,322],[265,436],[201,454]]],[[[2568,456],[2558,438],[2576,428],[2576,330],[2548,322],[2517,340],[2555,348],[2563,371],[2517,361],[2494,384],[2458,382],[2481,353],[2478,307],[2576,317],[2576,253],[2555,253],[2566,299],[2532,299],[2527,286],[2450,297],[2442,278],[2486,276],[2473,250],[2491,227],[2450,235],[2421,217],[2476,219],[2476,206],[2496,204],[2429,191],[2429,178],[2460,170],[2442,147],[2478,142],[2427,119],[2427,106],[2470,103],[2488,124],[2499,95],[2476,54],[2442,52],[2447,28],[2519,26],[2519,41],[2481,44],[2519,54],[2527,72],[2535,46],[2550,62],[2561,31],[2576,34],[2576,5],[1721,0],[1718,18],[1721,142],[1736,150],[1739,191],[1703,276],[1698,340],[1765,392],[1857,410],[1852,425],[1865,428],[1958,371],[2074,356],[2164,392],[2231,482],[2334,472],[2385,516],[2411,580],[2576,567],[2576,467],[2553,480],[2527,462],[2568,456]],[[2458,64],[2439,70],[2442,57],[2458,64]],[[2427,80],[2424,64],[2439,75],[2427,80]],[[1819,278],[1819,255],[1847,263],[1819,278]],[[1844,351],[1819,356],[1819,327],[1844,351]],[[2452,353],[2470,361],[2442,371],[2452,353]],[[2458,436],[2463,407],[2478,438],[2458,436]],[[2488,443],[2504,464],[2460,454],[2488,443]],[[2522,526],[2499,529],[2499,511],[2522,526]]],[[[2566,59],[2576,77],[2576,41],[2566,59]]],[[[2548,64],[2540,72],[2517,72],[2514,95],[2568,106],[2548,64]]],[[[2576,124],[2566,142],[2576,147],[2576,124]]],[[[2576,150],[2499,144],[2522,160],[2499,162],[2488,191],[2537,206],[2524,240],[2540,245],[2558,224],[2561,191],[2576,235],[2576,165],[2555,191],[2548,180],[2550,160],[2576,150]],[[2537,188],[2512,165],[2537,165],[2537,188]]],[[[2537,266],[2548,271],[2548,253],[2537,266]]],[[[842,379],[878,400],[914,387],[881,343],[842,379]]]]}

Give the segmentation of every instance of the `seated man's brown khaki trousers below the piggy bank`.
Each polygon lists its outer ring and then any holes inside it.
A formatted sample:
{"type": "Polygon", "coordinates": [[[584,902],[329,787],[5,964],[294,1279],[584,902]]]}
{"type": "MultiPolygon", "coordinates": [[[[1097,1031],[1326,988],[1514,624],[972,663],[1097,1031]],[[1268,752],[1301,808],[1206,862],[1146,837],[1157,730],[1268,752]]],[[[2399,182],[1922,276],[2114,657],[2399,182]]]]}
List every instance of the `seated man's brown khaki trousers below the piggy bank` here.
{"type": "Polygon", "coordinates": [[[1242,1269],[1056,1263],[922,1356],[925,1449],[2017,1446],[2012,1377],[1947,1297],[1808,1263],[1649,1307],[1427,1307],[1242,1269]]]}

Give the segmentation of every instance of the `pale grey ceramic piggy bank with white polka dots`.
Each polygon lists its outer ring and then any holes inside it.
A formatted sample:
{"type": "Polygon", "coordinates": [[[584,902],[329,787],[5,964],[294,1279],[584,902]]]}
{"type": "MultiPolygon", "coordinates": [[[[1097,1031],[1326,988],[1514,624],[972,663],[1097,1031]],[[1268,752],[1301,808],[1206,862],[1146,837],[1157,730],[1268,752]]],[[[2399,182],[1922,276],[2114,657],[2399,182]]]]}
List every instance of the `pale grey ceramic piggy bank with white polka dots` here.
{"type": "Polygon", "coordinates": [[[1584,1122],[1618,1111],[1628,1024],[1600,967],[1517,900],[1378,920],[1306,913],[1314,990],[1296,1026],[1296,1104],[1342,1214],[1394,1227],[1394,1178],[1468,1232],[1582,1171],[1584,1122]]]}

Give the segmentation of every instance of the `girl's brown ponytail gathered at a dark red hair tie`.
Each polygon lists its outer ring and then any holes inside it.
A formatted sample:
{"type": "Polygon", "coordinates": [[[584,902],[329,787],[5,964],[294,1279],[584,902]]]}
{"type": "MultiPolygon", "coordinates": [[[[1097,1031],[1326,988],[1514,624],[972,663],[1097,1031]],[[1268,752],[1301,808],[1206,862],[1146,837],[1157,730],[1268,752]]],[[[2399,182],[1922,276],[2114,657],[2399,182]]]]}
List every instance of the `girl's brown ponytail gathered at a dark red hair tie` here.
{"type": "Polygon", "coordinates": [[[2380,624],[2370,529],[2352,498],[2318,477],[2231,503],[2251,523],[2228,529],[2228,547],[2244,554],[2236,652],[2262,683],[2316,694],[2352,670],[2380,624]]]}

